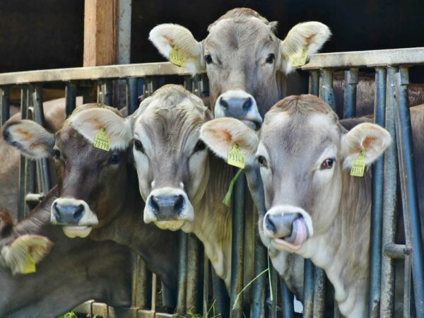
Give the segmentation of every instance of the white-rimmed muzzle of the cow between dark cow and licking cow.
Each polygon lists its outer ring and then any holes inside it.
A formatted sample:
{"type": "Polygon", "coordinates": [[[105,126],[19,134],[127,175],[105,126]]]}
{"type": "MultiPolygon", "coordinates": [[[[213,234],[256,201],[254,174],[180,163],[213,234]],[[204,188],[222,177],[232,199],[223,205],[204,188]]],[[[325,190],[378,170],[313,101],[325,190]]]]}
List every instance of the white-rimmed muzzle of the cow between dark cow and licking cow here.
{"type": "Polygon", "coordinates": [[[161,229],[179,230],[185,222],[194,220],[194,211],[182,189],[155,189],[146,199],[144,222],[154,222],[161,229]]]}

